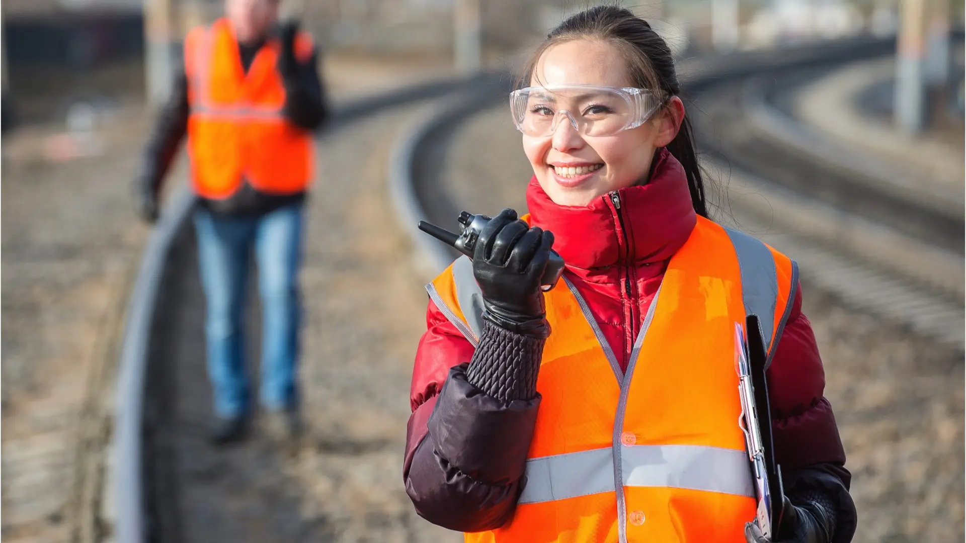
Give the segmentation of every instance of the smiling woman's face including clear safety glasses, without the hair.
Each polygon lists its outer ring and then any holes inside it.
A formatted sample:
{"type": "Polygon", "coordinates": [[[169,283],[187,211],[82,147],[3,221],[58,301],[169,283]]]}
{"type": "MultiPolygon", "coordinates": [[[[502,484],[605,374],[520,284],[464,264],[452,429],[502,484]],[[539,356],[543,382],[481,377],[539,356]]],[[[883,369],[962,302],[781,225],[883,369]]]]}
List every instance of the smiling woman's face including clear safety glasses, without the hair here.
{"type": "Polygon", "coordinates": [[[631,76],[608,42],[561,41],[538,59],[531,86],[511,100],[529,99],[517,126],[537,181],[554,202],[585,206],[611,190],[646,182],[655,151],[674,139],[684,120],[684,104],[674,91],[639,88],[652,73],[631,76]],[[559,123],[561,117],[569,123],[559,123]],[[594,170],[572,177],[571,167],[594,170]]]}

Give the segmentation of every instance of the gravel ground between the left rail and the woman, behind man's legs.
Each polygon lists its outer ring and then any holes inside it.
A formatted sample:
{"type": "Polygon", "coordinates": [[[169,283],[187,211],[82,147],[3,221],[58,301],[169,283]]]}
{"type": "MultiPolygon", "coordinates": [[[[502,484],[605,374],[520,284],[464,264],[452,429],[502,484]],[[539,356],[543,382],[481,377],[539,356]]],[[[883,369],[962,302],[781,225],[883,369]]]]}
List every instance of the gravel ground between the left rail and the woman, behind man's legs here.
{"type": "MultiPolygon", "coordinates": [[[[204,304],[194,240],[173,255],[182,270],[164,287],[153,386],[155,496],[160,541],[422,542],[459,534],[415,515],[402,484],[409,382],[426,307],[412,246],[385,190],[402,107],[328,134],[308,208],[301,273],[305,323],[300,386],[306,439],[294,454],[270,443],[259,419],[251,439],[215,448],[205,375],[204,304]],[[160,385],[168,380],[166,385],[160,385]],[[177,481],[173,484],[166,481],[177,481]]],[[[257,297],[257,292],[250,291],[257,297]]],[[[254,300],[253,300],[254,301],[254,300]]],[[[249,375],[258,375],[258,308],[249,309],[249,375]]]]}

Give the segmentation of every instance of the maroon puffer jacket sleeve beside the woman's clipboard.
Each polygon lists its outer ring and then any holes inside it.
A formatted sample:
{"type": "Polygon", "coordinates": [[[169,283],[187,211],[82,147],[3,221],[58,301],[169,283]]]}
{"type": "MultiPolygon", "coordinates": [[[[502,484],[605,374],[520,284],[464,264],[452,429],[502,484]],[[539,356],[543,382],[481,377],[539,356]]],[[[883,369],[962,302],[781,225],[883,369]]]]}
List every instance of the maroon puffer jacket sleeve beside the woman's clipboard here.
{"type": "Polygon", "coordinates": [[[855,503],[848,492],[852,476],[845,469],[832,405],[824,396],[825,370],[809,319],[802,313],[801,285],[767,378],[772,439],[785,495],[794,502],[796,494],[821,491],[837,505],[833,541],[851,541],[856,528],[855,503]]]}

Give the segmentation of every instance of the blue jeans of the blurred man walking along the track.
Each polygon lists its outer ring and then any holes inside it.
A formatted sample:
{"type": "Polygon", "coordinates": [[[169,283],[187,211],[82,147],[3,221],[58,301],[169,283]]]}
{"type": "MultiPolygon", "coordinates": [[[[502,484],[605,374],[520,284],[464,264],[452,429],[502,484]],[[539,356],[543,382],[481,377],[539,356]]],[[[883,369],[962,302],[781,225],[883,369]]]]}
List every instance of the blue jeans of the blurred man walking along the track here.
{"type": "Polygon", "coordinates": [[[208,375],[218,416],[239,416],[250,409],[242,336],[253,248],[262,299],[262,405],[275,411],[297,401],[302,222],[301,204],[260,217],[219,216],[204,209],[194,214],[201,282],[208,300],[208,375]]]}

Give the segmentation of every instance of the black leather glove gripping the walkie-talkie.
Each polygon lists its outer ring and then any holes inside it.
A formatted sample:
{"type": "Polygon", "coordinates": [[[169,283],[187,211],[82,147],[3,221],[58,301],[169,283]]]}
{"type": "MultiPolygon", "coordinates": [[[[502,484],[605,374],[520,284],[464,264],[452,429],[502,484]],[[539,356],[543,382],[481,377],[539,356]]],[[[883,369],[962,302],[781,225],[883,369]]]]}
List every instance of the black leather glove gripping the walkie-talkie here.
{"type": "Polygon", "coordinates": [[[553,244],[553,233],[528,227],[511,209],[493,217],[473,248],[484,319],[531,337],[550,335],[540,279],[553,244]]]}

